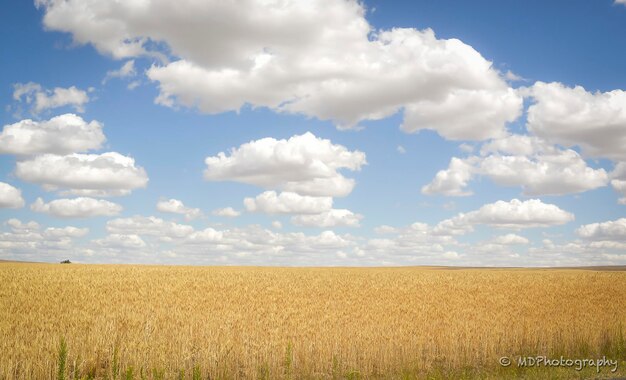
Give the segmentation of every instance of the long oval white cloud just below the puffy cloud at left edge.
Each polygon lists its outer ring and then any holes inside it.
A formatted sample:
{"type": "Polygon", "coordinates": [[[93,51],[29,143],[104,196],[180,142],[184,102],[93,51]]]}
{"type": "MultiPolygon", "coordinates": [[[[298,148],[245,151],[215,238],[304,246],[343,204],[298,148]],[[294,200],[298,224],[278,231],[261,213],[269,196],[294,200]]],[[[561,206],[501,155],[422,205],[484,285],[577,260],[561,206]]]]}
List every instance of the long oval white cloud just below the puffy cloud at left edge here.
{"type": "Polygon", "coordinates": [[[81,195],[93,192],[118,195],[145,187],[148,176],[135,160],[116,152],[103,154],[44,154],[18,161],[15,174],[47,190],[70,189],[81,195]]]}

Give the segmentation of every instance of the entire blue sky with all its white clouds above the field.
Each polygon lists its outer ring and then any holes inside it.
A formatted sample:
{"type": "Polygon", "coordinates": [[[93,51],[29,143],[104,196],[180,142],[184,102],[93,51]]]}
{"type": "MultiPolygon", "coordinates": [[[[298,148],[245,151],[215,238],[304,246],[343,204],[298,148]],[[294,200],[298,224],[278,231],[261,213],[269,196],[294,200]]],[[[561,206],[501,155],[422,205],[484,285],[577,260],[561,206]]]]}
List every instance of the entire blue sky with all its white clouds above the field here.
{"type": "Polygon", "coordinates": [[[2,7],[0,259],[626,264],[625,4],[2,7]]]}

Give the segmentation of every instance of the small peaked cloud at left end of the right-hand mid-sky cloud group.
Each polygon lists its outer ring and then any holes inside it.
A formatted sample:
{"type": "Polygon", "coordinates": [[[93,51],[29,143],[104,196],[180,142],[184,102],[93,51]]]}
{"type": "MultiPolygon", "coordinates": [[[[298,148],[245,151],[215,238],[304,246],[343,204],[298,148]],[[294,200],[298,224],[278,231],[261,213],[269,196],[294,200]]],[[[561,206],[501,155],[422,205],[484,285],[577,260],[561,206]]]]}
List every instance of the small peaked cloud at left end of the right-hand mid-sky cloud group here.
{"type": "Polygon", "coordinates": [[[468,196],[471,191],[464,191],[472,178],[474,168],[467,160],[452,157],[446,170],[440,170],[428,185],[422,187],[422,194],[442,194],[447,196],[468,196]]]}

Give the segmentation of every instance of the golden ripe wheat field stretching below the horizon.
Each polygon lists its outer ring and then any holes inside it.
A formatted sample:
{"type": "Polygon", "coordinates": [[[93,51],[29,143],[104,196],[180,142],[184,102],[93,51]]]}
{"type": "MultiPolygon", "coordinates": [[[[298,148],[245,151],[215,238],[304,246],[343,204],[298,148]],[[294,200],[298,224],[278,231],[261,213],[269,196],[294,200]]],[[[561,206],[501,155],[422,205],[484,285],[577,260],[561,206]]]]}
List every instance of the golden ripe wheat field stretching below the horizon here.
{"type": "Polygon", "coordinates": [[[610,377],[622,326],[624,271],[0,264],[2,379],[610,377]]]}

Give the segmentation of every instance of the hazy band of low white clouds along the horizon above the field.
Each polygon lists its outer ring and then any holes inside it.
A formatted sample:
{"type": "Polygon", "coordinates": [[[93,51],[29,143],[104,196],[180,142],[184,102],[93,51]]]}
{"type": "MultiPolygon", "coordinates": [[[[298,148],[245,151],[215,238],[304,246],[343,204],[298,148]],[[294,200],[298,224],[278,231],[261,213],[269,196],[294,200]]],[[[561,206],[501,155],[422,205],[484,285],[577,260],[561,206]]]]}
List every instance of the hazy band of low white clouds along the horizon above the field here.
{"type": "MultiPolygon", "coordinates": [[[[323,231],[317,235],[279,232],[258,225],[194,230],[154,217],[115,219],[109,235],[87,245],[74,242],[88,230],[41,228],[11,219],[0,231],[0,257],[56,261],[185,262],[247,265],[508,265],[565,266],[624,264],[626,238],[619,229],[596,228],[593,237],[565,244],[529,245],[528,239],[505,234],[487,241],[462,243],[424,223],[379,228],[383,239],[363,240],[323,231]],[[613,232],[607,232],[613,231],[613,232]]],[[[618,220],[626,227],[626,221],[618,220]]],[[[602,223],[599,223],[602,225],[602,223]]],[[[592,229],[593,230],[593,229],[592,229]]],[[[623,231],[622,231],[623,232],[623,231]]]]}

